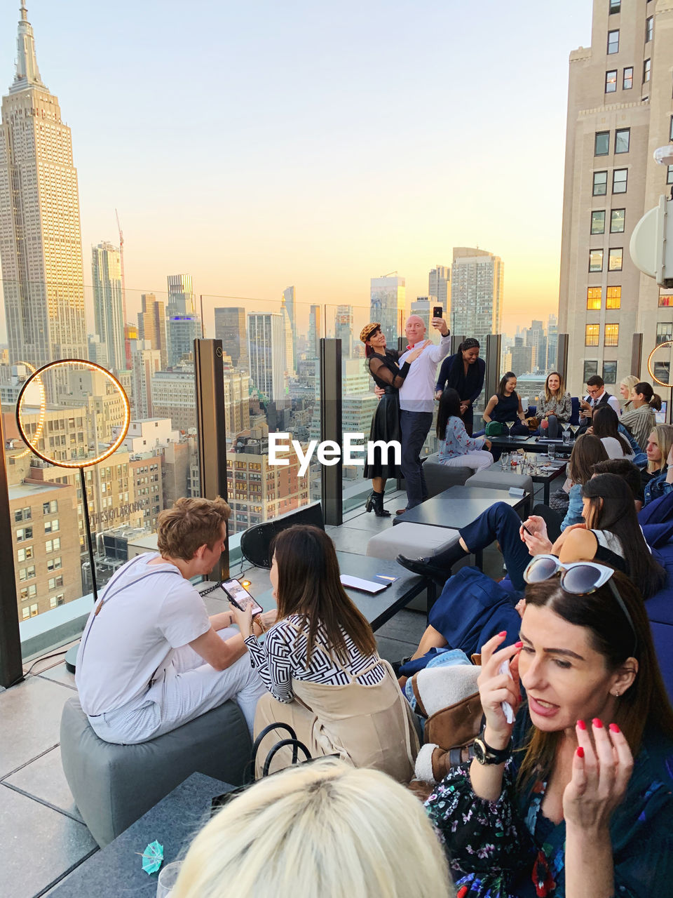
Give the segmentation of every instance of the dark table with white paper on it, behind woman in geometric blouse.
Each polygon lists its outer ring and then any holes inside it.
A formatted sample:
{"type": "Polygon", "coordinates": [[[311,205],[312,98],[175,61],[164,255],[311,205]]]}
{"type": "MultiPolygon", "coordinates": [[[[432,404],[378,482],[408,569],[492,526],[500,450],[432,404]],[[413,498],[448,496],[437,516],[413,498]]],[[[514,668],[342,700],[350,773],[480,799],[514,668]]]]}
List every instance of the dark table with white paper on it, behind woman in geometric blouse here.
{"type": "MultiPolygon", "coordinates": [[[[404,517],[404,515],[401,516],[404,517]]],[[[366,534],[363,534],[363,537],[366,538],[366,534]]],[[[382,627],[386,621],[389,621],[393,615],[425,589],[428,590],[428,603],[432,603],[434,600],[433,581],[412,574],[406,568],[400,567],[397,561],[370,558],[368,555],[355,555],[354,552],[337,552],[337,559],[341,573],[350,574],[351,577],[362,577],[363,580],[373,580],[377,574],[398,577],[395,583],[376,595],[361,593],[357,589],[346,589],[346,593],[351,597],[356,608],[370,622],[371,629],[376,630],[382,627]]],[[[275,601],[270,589],[256,598],[265,611],[275,608],[275,601]]]]}

